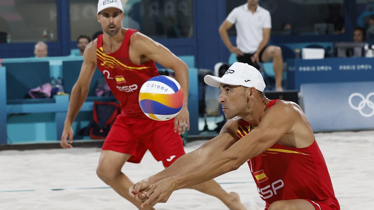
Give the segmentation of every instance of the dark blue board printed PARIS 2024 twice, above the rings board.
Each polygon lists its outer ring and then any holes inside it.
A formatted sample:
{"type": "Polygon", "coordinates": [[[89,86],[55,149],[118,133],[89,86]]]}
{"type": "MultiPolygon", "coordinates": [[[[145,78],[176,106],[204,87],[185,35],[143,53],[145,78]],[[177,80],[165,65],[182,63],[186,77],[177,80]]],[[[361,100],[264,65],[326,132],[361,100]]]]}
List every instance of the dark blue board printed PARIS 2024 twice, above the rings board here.
{"type": "Polygon", "coordinates": [[[295,59],[294,68],[289,69],[294,70],[297,90],[306,83],[374,81],[373,58],[295,59]]]}

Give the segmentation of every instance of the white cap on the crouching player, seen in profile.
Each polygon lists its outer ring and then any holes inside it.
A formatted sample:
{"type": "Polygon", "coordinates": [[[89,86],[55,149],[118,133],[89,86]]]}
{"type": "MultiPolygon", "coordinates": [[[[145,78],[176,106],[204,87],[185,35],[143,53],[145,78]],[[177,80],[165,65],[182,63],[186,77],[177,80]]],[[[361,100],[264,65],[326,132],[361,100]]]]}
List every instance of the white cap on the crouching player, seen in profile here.
{"type": "Polygon", "coordinates": [[[256,90],[264,92],[265,82],[261,73],[251,65],[235,62],[222,77],[206,75],[204,77],[206,84],[213,87],[220,87],[220,84],[241,85],[245,87],[254,87],[256,90]]]}

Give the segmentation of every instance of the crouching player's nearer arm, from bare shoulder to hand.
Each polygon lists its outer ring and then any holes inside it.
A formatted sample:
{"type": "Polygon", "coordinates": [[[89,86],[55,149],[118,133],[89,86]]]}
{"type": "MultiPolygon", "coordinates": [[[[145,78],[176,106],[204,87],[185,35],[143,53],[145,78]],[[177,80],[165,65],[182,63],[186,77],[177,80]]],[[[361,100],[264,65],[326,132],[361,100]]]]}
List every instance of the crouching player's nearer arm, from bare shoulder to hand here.
{"type": "Polygon", "coordinates": [[[300,114],[292,104],[279,103],[267,110],[261,123],[229,149],[216,152],[199,166],[187,173],[163,179],[143,206],[166,202],[174,190],[186,188],[238,169],[250,158],[261,154],[274,145],[285,133],[292,133],[300,114]],[[274,120],[277,119],[277,120],[274,120]]]}

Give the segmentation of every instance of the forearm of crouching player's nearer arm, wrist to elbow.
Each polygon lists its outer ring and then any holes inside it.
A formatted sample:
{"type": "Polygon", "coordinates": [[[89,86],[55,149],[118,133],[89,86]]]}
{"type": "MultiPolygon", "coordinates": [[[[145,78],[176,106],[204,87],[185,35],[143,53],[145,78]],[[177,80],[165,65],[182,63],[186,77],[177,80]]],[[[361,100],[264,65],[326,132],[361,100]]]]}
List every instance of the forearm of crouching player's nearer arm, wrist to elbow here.
{"type": "Polygon", "coordinates": [[[197,185],[238,168],[235,155],[223,152],[208,158],[199,166],[178,176],[171,177],[176,189],[197,185]]]}

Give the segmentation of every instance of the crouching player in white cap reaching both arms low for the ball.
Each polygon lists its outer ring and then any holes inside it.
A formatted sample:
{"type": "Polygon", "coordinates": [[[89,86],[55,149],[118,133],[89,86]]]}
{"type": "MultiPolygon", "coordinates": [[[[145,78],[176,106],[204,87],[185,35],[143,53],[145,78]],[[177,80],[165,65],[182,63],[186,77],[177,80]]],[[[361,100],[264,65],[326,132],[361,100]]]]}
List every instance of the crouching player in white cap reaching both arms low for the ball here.
{"type": "Polygon", "coordinates": [[[174,190],[247,162],[265,209],[340,209],[324,157],[300,106],[267,99],[261,73],[248,64],[235,62],[222,77],[207,75],[204,81],[220,87],[218,100],[230,120],[217,137],[132,186],[132,197],[141,191],[138,198],[149,197],[142,205],[153,206],[166,202],[174,190]]]}

